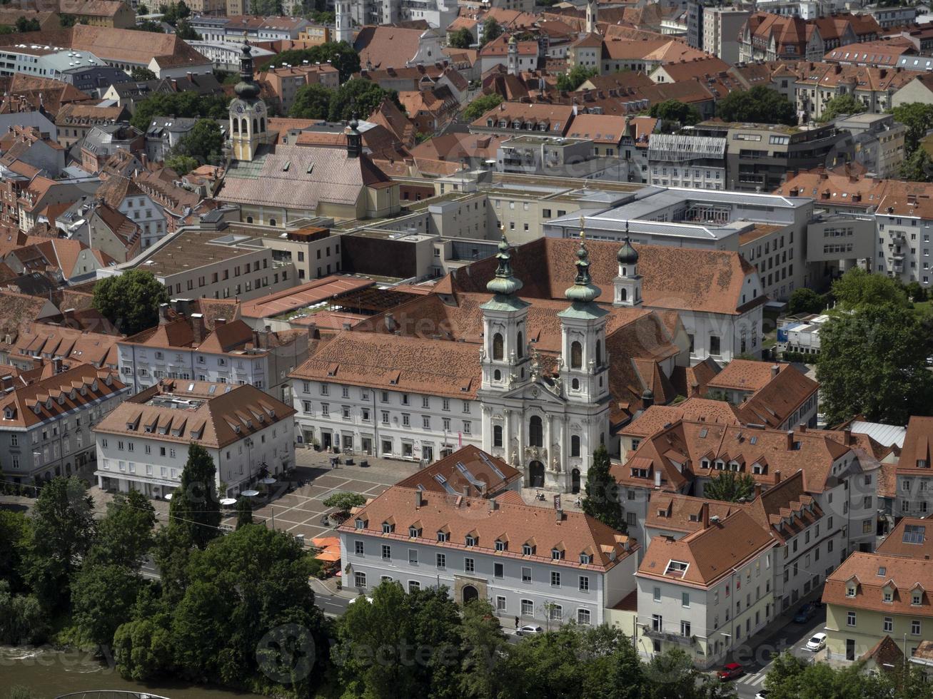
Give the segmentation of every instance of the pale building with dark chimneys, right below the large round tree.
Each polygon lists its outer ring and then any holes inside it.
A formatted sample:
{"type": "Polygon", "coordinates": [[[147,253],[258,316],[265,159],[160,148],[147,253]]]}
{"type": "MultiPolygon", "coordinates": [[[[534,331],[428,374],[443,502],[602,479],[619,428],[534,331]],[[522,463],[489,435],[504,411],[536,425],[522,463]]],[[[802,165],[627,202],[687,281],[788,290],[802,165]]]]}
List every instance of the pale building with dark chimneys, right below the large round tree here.
{"type": "Polygon", "coordinates": [[[288,375],[308,357],[303,330],[253,330],[239,319],[205,319],[200,307],[175,299],[160,307],[159,325],[120,339],[119,373],[144,391],[163,378],[255,386],[291,403],[288,375]]]}

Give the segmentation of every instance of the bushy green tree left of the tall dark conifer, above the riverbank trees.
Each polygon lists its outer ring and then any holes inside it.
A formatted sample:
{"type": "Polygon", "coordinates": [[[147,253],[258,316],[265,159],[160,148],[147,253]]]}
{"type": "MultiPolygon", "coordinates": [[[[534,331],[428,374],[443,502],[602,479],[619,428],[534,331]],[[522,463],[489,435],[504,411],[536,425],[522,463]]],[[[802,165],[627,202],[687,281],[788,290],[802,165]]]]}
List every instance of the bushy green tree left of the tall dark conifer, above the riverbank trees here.
{"type": "Polygon", "coordinates": [[[118,493],[97,525],[88,560],[135,571],[155,543],[156,511],[138,490],[118,493]]]}

